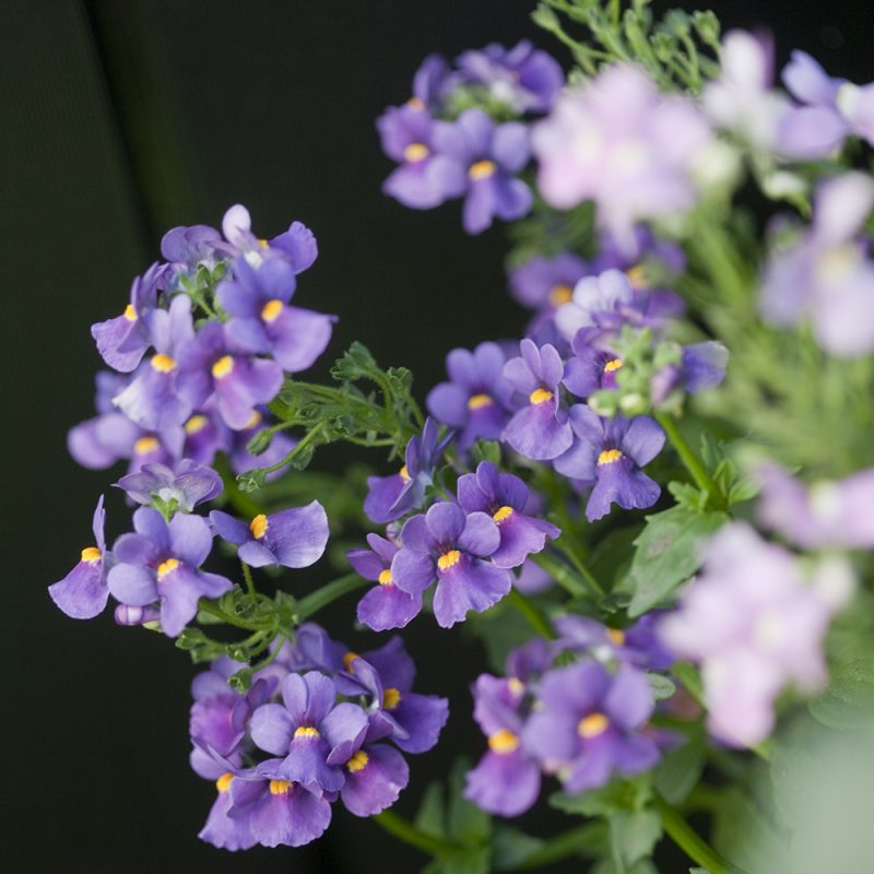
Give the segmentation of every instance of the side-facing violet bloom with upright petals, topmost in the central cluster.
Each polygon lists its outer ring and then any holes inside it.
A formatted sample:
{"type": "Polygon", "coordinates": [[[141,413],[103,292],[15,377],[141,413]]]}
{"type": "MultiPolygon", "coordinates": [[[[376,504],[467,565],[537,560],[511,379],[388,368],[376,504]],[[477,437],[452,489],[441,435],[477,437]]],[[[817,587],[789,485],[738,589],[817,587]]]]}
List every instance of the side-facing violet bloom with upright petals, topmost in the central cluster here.
{"type": "Polygon", "coordinates": [[[434,469],[452,433],[438,440],[440,426],[428,417],[422,435],[410,438],[404,464],[390,476],[368,476],[364,511],[371,522],[386,524],[422,506],[425,489],[434,482],[434,469]]]}

